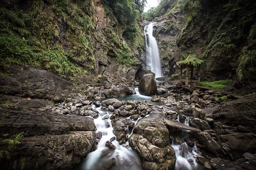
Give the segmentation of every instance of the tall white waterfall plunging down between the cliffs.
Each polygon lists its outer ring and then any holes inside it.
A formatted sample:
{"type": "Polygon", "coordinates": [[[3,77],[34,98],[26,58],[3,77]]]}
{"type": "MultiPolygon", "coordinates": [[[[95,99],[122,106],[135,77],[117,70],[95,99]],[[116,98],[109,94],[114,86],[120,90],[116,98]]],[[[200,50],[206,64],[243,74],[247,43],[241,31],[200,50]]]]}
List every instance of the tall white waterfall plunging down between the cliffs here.
{"type": "Polygon", "coordinates": [[[144,33],[146,38],[147,67],[156,74],[155,77],[162,77],[160,58],[156,39],[153,36],[154,23],[145,26],[144,33]]]}

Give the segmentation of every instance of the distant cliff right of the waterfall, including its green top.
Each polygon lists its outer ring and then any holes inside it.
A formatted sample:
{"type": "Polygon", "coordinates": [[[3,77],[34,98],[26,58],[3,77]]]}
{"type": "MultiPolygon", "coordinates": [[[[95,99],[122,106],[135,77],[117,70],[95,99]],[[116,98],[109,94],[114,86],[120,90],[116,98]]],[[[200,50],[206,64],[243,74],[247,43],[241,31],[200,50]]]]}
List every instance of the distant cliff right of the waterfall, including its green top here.
{"type": "Polygon", "coordinates": [[[167,76],[178,72],[177,62],[182,60],[176,39],[186,23],[187,17],[183,11],[186,2],[187,0],[162,0],[158,7],[144,13],[146,20],[155,23],[154,36],[158,45],[162,72],[167,76]]]}

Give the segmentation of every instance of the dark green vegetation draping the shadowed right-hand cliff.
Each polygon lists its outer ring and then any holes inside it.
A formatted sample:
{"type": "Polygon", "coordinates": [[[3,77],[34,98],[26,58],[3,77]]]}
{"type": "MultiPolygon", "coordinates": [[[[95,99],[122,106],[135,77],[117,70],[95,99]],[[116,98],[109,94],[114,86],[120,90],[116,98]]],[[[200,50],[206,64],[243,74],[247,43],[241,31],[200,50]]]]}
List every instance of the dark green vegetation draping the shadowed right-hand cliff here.
{"type": "MultiPolygon", "coordinates": [[[[207,39],[197,43],[196,49],[204,49],[201,58],[211,62],[214,70],[218,63],[225,63],[228,67],[233,61],[238,61],[236,77],[239,83],[256,78],[256,24],[255,3],[249,0],[217,1],[197,0],[200,4],[199,11],[191,13],[184,9],[190,16],[185,29],[177,42],[181,40],[181,49],[186,49],[185,41],[193,39],[194,35],[202,32],[207,27],[207,39]],[[239,17],[238,17],[239,16],[239,17]],[[206,26],[206,27],[205,27],[206,26]]],[[[190,2],[192,3],[192,1],[190,2]]],[[[188,6],[189,7],[189,6],[188,6]]],[[[195,10],[196,11],[196,10],[195,10]]],[[[224,72],[228,72],[224,71],[224,72]]]]}

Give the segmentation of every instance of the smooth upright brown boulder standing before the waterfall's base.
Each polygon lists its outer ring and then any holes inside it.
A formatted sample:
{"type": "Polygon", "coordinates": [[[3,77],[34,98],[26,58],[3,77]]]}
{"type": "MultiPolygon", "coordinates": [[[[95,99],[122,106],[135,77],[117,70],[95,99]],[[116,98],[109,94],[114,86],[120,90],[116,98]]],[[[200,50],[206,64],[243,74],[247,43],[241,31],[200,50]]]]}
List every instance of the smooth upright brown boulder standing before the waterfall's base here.
{"type": "Polygon", "coordinates": [[[139,93],[145,96],[156,94],[156,81],[153,74],[144,74],[139,81],[139,93]]]}

